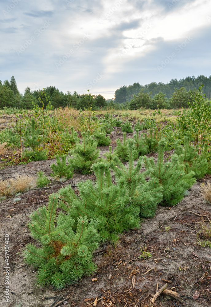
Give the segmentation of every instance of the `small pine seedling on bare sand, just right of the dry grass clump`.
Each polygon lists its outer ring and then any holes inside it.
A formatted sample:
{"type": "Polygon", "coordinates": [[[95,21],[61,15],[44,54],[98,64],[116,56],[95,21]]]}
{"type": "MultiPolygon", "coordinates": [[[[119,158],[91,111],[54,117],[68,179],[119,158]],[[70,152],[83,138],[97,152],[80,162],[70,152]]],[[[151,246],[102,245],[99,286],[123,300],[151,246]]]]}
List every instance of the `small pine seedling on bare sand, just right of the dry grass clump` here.
{"type": "Polygon", "coordinates": [[[63,155],[60,160],[59,156],[57,155],[56,160],[57,164],[53,163],[50,165],[50,168],[53,171],[53,173],[51,173],[51,176],[56,180],[68,180],[72,178],[73,169],[70,164],[66,163],[66,156],[63,155]]]}

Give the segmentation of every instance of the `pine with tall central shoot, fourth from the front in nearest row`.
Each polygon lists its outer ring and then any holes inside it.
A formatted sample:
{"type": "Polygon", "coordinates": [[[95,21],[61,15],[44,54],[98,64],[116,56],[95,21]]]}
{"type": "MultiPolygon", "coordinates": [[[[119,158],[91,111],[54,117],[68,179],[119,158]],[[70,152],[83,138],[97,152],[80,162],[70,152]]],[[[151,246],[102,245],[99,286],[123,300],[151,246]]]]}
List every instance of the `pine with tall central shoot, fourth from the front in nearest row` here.
{"type": "Polygon", "coordinates": [[[173,155],[171,161],[164,162],[164,151],[166,147],[165,140],[158,142],[158,160],[154,163],[153,158],[144,157],[144,163],[147,169],[151,169],[150,177],[152,181],[159,181],[163,187],[162,205],[174,206],[179,203],[187,189],[194,183],[194,172],[186,174],[184,171],[184,157],[173,155]]]}

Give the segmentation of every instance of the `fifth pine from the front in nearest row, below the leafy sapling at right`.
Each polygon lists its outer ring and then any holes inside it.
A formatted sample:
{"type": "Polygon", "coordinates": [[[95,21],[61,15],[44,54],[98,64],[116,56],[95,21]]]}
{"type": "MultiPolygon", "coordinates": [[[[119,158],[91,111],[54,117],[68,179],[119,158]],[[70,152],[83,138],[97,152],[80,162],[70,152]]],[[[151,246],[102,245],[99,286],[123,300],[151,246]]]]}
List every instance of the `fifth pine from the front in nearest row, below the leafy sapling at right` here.
{"type": "Polygon", "coordinates": [[[188,137],[184,137],[184,146],[182,147],[178,143],[174,144],[175,154],[178,156],[184,156],[185,172],[189,173],[193,171],[194,177],[200,179],[204,177],[208,169],[208,162],[200,154],[198,154],[197,148],[190,145],[188,137]]]}

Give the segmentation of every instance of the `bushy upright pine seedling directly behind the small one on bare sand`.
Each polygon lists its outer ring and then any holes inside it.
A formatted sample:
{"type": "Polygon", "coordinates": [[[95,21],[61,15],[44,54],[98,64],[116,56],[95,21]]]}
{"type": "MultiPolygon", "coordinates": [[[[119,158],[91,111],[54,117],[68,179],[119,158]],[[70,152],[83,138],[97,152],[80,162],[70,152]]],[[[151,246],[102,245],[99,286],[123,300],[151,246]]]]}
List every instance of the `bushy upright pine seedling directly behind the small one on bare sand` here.
{"type": "Polygon", "coordinates": [[[82,144],[77,144],[72,151],[72,158],[69,159],[75,171],[82,174],[92,173],[92,164],[99,158],[100,150],[97,145],[97,141],[90,137],[89,130],[87,134],[82,133],[82,144]]]}

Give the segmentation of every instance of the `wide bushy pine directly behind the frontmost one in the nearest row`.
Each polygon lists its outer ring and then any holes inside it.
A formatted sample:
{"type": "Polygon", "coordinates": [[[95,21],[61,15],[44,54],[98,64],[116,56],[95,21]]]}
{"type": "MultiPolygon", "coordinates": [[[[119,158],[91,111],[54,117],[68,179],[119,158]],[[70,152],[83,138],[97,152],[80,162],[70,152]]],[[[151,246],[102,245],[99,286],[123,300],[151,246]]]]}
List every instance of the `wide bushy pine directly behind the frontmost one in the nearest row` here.
{"type": "Polygon", "coordinates": [[[93,183],[92,180],[79,182],[78,197],[70,192],[72,190],[70,186],[60,189],[58,191],[60,205],[74,220],[81,215],[96,219],[99,223],[100,239],[115,241],[118,234],[124,230],[139,227],[139,210],[127,206],[127,190],[112,183],[108,163],[96,163],[92,169],[96,182],[93,183]]]}

